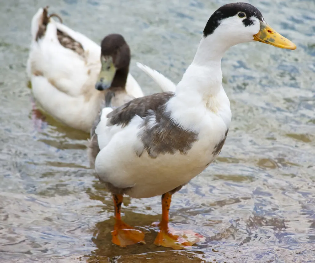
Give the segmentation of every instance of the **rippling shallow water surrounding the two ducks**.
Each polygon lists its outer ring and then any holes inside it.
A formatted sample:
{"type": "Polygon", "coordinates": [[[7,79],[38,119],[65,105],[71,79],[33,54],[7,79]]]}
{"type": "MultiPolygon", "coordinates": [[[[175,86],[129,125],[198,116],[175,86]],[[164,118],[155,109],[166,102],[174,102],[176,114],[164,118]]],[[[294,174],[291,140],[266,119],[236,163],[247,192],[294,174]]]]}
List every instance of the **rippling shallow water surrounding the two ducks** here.
{"type": "MultiPolygon", "coordinates": [[[[160,197],[125,198],[124,219],[147,233],[146,245],[111,244],[113,204],[89,169],[87,136],[50,118],[38,132],[30,117],[30,22],[48,2],[1,1],[1,262],[315,262],[315,2],[249,2],[297,49],[246,43],[227,52],[233,120],[226,144],[174,195],[170,211],[175,229],[206,239],[174,252],[152,244],[160,197]]],[[[123,34],[131,73],[150,94],[159,89],[135,62],[179,81],[209,16],[228,1],[141,3],[55,0],[50,12],[97,43],[123,34]]]]}

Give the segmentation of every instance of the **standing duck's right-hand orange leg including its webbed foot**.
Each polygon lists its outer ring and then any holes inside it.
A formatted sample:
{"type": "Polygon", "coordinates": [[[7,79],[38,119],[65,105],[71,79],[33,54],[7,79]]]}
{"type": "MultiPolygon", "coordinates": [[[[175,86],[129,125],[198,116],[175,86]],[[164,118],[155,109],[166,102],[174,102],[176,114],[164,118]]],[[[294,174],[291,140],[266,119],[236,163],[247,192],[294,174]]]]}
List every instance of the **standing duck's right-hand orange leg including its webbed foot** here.
{"type": "MultiPolygon", "coordinates": [[[[173,249],[184,249],[190,247],[196,242],[200,241],[200,238],[203,236],[193,233],[193,238],[187,239],[185,233],[181,236],[173,235],[169,231],[169,207],[171,204],[172,195],[166,193],[162,195],[162,220],[159,224],[160,232],[157,234],[157,237],[154,241],[154,244],[157,246],[163,246],[173,249]],[[185,238],[184,238],[185,236],[185,238]]],[[[190,231],[192,233],[192,231],[190,231]]]]}

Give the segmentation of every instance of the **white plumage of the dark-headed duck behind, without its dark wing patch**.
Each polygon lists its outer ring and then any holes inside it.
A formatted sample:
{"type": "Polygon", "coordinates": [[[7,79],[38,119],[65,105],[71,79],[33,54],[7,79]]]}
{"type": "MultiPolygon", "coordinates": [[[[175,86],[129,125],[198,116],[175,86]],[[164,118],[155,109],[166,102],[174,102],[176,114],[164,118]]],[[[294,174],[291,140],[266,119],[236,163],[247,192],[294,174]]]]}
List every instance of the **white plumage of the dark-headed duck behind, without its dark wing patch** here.
{"type": "MultiPolygon", "coordinates": [[[[27,75],[33,96],[41,108],[55,119],[89,132],[104,101],[104,93],[95,89],[101,67],[100,46],[51,18],[44,35],[37,38],[43,24],[43,11],[43,8],[38,9],[31,21],[27,75]],[[84,54],[61,45],[57,30],[80,43],[84,54]]],[[[130,73],[125,90],[134,98],[143,96],[138,82],[130,73]]]]}

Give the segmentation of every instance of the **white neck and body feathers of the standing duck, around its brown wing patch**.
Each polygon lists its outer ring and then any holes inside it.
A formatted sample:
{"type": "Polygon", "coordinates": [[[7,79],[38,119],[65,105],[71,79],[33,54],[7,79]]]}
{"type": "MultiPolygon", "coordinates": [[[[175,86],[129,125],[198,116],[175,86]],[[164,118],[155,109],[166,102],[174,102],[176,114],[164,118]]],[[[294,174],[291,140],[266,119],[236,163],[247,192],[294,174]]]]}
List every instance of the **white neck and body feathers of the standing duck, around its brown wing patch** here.
{"type": "Polygon", "coordinates": [[[208,46],[209,39],[203,39],[194,61],[176,86],[175,96],[166,103],[172,120],[198,133],[192,148],[186,155],[176,152],[152,158],[138,136],[143,119],[135,116],[124,128],[107,126],[110,110],[105,108],[95,130],[100,146],[95,170],[101,180],[119,188],[130,187],[127,194],[131,197],[152,197],[189,182],[215,159],[215,146],[225,138],[230,126],[231,109],[222,87],[223,52],[209,63],[202,59],[208,46]]]}

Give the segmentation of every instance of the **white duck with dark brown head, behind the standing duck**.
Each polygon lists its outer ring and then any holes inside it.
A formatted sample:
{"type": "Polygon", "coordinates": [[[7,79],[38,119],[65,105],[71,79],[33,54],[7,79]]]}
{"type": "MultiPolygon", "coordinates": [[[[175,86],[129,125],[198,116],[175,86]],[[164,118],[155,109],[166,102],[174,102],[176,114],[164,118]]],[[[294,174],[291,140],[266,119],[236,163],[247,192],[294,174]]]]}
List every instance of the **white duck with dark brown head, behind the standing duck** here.
{"type": "MultiPolygon", "coordinates": [[[[140,85],[129,73],[129,46],[117,34],[106,36],[100,46],[64,25],[58,14],[49,15],[48,8],[39,8],[31,21],[26,72],[33,98],[39,108],[54,119],[90,133],[104,106],[106,94],[112,94],[113,107],[144,96],[140,85]],[[117,49],[113,48],[116,46],[117,49]],[[105,62],[102,52],[112,56],[112,61],[105,62]],[[110,71],[106,72],[106,67],[110,67],[110,71]],[[100,79],[104,80],[101,84],[100,79]]],[[[162,91],[165,89],[163,84],[162,91]]]]}

